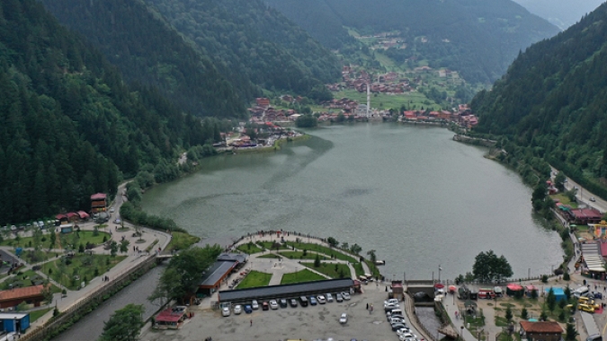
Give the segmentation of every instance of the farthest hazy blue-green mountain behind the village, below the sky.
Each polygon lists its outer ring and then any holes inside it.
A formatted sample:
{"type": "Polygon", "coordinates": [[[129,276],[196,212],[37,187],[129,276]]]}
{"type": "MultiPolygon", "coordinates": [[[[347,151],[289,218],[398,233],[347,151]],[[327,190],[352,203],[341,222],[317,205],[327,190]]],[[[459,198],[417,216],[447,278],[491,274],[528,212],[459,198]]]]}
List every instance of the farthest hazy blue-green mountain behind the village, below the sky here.
{"type": "Polygon", "coordinates": [[[265,0],[329,48],[344,48],[344,26],[362,34],[399,31],[406,48],[388,56],[428,60],[472,83],[504,74],[519,50],[558,28],[511,0],[265,0]]]}

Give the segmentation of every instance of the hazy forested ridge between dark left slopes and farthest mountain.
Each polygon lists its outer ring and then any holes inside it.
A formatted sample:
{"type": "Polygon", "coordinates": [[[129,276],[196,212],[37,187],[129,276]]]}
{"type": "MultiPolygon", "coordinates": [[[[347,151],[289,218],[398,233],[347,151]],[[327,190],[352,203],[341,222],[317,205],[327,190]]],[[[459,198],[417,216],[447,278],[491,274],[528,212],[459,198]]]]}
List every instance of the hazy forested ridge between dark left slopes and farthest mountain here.
{"type": "Polygon", "coordinates": [[[261,0],[145,1],[206,56],[263,88],[306,95],[341,75],[331,52],[261,0]]]}

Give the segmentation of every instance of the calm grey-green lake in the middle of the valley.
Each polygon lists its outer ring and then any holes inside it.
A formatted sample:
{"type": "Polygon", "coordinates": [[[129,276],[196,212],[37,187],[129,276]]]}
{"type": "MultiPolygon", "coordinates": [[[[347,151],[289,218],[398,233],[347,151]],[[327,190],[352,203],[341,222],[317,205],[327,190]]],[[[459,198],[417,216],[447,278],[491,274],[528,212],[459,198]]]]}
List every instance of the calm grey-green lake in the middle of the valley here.
{"type": "Polygon", "coordinates": [[[531,188],[485,149],[438,127],[357,124],[308,131],[276,153],[222,155],[148,190],[148,213],[201,237],[286,230],[358,243],[386,259],[388,278],[454,278],[481,251],[514,276],[563,259],[556,232],[531,212],[531,188]]]}

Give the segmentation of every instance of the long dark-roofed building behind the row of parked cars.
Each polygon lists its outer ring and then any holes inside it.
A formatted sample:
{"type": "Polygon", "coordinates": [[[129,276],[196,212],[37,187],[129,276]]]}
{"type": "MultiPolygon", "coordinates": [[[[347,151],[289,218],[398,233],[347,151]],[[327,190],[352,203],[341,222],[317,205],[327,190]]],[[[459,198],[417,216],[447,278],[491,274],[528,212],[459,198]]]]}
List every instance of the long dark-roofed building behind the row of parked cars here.
{"type": "Polygon", "coordinates": [[[350,291],[352,278],[327,279],[298,284],[270,285],[260,288],[224,290],[219,292],[219,302],[247,302],[251,300],[280,299],[315,293],[337,293],[350,291]]]}

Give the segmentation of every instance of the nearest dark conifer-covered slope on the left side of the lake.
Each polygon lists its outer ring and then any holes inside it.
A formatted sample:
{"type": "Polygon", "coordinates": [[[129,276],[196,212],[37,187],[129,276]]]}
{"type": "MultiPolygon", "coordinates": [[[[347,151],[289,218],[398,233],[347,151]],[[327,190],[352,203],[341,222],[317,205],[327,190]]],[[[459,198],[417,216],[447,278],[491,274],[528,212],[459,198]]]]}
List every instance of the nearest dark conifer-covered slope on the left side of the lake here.
{"type": "Polygon", "coordinates": [[[218,122],[129,88],[36,0],[0,2],[1,224],[90,208],[120,171],[174,169],[177,148],[218,135],[218,122]]]}

